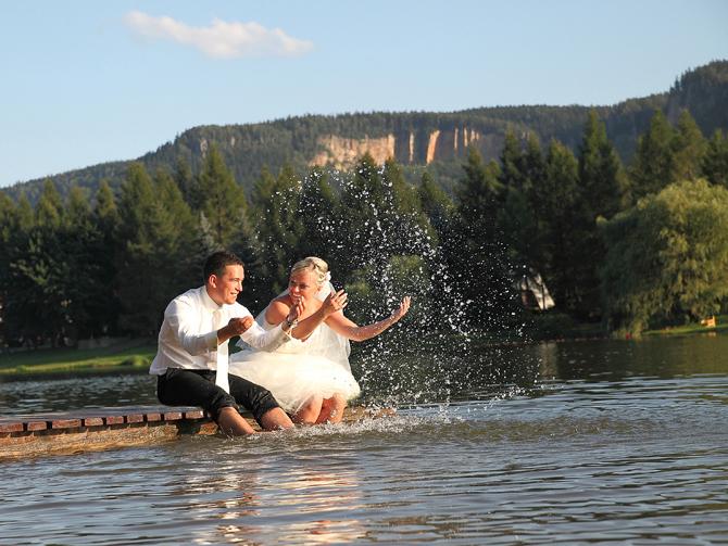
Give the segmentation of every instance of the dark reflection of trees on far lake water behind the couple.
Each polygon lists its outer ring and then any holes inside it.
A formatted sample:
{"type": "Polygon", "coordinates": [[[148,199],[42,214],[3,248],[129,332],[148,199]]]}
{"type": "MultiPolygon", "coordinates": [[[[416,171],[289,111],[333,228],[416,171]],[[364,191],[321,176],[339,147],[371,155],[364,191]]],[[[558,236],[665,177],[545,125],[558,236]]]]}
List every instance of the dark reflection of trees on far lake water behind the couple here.
{"type": "MultiPolygon", "coordinates": [[[[421,353],[353,363],[362,402],[377,406],[541,396],[575,381],[617,384],[639,378],[725,372],[728,335],[590,341],[421,353]]],[[[0,415],[17,416],[106,406],[156,405],[147,373],[0,382],[0,415]]],[[[705,393],[721,401],[714,391],[705,393]]]]}

